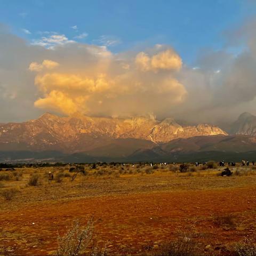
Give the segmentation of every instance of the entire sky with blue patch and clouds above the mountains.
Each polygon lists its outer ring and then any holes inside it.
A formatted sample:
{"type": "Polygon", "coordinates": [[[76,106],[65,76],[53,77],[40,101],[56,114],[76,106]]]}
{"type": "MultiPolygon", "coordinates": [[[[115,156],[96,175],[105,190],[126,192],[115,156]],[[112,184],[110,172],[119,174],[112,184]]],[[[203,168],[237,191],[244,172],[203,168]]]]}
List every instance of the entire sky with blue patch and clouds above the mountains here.
{"type": "Polygon", "coordinates": [[[255,18],[254,0],[0,0],[0,123],[256,114],[255,18]]]}

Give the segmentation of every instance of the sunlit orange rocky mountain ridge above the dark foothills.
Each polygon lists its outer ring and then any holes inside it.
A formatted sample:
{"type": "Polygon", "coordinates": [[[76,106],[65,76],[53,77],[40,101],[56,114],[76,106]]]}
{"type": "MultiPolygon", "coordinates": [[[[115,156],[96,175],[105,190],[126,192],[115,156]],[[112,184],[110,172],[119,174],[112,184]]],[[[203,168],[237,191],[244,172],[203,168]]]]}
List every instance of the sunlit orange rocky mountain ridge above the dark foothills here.
{"type": "Polygon", "coordinates": [[[155,144],[177,138],[227,133],[218,126],[181,126],[173,118],[162,122],[153,118],[90,117],[75,113],[60,117],[45,113],[23,123],[0,125],[0,150],[60,150],[73,153],[103,146],[114,139],[139,139],[155,144]]]}

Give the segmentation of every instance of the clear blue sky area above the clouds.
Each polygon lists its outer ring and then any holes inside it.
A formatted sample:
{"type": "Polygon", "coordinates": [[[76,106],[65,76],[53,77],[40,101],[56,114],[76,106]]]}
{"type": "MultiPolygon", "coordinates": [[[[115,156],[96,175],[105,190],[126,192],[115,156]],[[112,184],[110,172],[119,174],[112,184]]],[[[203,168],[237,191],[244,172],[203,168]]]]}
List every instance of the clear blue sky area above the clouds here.
{"type": "Polygon", "coordinates": [[[255,15],[252,2],[0,0],[0,22],[30,42],[54,31],[69,40],[106,44],[112,52],[169,44],[189,64],[203,48],[221,49],[223,31],[255,15]]]}

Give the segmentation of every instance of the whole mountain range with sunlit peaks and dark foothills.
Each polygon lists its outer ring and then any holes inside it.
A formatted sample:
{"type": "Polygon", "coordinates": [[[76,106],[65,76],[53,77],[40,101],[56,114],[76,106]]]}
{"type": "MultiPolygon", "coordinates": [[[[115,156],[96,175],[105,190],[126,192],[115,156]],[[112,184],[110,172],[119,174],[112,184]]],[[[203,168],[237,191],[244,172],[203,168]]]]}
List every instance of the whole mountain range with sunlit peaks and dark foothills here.
{"type": "Polygon", "coordinates": [[[243,113],[229,130],[228,134],[210,124],[181,125],[173,118],[46,113],[23,123],[0,124],[0,161],[183,162],[238,159],[243,154],[254,158],[256,116],[243,113]]]}

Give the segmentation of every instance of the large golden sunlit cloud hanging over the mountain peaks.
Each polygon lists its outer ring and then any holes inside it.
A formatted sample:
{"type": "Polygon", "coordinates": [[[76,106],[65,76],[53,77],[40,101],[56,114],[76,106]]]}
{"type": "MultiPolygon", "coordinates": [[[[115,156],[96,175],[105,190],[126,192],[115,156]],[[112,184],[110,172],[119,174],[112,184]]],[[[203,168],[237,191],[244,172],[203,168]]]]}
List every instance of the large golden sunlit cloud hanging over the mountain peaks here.
{"type": "Polygon", "coordinates": [[[31,71],[39,72],[35,85],[42,93],[42,97],[35,101],[35,107],[67,115],[81,111],[122,116],[175,106],[187,95],[185,87],[169,72],[178,71],[182,65],[173,50],[167,49],[151,57],[140,52],[134,59],[122,58],[122,61],[112,54],[109,58],[91,52],[87,54],[86,68],[83,63],[76,68],[61,63],[62,70],[59,68],[55,72],[51,69],[59,66],[57,62],[44,60],[42,64],[30,64],[31,71]],[[159,69],[166,72],[156,72],[159,69]],[[151,107],[152,99],[156,101],[154,107],[151,107]]]}

